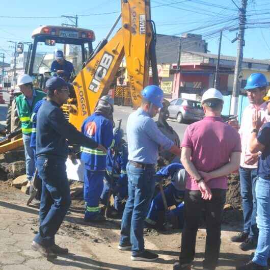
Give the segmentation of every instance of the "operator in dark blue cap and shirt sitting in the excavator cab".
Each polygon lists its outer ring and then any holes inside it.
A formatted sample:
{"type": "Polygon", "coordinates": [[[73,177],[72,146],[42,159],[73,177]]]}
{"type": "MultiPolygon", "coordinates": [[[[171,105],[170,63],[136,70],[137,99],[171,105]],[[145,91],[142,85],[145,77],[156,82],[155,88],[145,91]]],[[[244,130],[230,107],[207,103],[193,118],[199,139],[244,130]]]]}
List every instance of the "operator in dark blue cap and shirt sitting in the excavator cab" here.
{"type": "Polygon", "coordinates": [[[64,58],[62,50],[56,52],[56,60],[52,62],[50,67],[51,72],[56,72],[60,77],[65,76],[68,79],[74,71],[74,66],[71,62],[64,58]]]}

